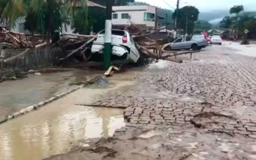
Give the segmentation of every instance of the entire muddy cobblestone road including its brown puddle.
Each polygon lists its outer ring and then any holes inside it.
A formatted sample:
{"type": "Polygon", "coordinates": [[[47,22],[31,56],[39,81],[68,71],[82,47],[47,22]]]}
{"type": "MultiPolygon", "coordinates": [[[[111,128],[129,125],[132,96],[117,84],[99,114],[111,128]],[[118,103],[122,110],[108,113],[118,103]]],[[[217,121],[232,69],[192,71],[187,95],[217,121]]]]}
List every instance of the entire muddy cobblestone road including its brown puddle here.
{"type": "Polygon", "coordinates": [[[0,125],[0,159],[254,160],[256,59],[241,52],[213,45],[81,88],[0,125]]]}

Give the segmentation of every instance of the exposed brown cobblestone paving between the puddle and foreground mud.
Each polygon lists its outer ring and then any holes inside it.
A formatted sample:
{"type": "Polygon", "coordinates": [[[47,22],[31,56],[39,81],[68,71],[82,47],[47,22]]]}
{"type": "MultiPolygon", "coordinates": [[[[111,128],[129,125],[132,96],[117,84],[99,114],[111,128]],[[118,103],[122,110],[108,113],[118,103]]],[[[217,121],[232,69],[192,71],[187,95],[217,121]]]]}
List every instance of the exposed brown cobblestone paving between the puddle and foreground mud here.
{"type": "Polygon", "coordinates": [[[95,105],[125,108],[133,124],[195,125],[256,138],[256,59],[232,52],[209,47],[192,61],[141,74],[136,86],[95,105]]]}

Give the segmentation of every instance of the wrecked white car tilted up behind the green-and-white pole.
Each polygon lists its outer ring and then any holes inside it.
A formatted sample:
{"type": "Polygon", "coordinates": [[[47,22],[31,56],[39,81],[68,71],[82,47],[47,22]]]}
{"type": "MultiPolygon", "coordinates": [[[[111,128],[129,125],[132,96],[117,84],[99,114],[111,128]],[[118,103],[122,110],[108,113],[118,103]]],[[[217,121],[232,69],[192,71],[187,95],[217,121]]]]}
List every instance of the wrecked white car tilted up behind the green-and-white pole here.
{"type": "MultiPolygon", "coordinates": [[[[135,46],[135,42],[129,32],[124,30],[112,30],[112,60],[128,59],[137,62],[140,54],[135,46]]],[[[96,36],[91,52],[93,54],[103,54],[105,42],[105,30],[102,30],[96,36]]]]}

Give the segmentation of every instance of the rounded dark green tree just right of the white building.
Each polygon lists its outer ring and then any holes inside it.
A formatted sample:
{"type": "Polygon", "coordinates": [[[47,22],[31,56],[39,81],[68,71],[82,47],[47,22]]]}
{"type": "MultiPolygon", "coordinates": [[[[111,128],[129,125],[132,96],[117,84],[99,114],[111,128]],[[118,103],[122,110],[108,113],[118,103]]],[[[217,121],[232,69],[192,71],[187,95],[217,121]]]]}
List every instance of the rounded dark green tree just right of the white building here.
{"type": "Polygon", "coordinates": [[[175,19],[177,16],[178,29],[181,28],[183,30],[186,30],[187,26],[188,34],[191,34],[193,33],[195,26],[194,22],[197,21],[198,15],[199,11],[197,8],[195,8],[194,6],[185,6],[178,10],[178,15],[177,10],[175,10],[172,17],[173,19],[175,19]]]}

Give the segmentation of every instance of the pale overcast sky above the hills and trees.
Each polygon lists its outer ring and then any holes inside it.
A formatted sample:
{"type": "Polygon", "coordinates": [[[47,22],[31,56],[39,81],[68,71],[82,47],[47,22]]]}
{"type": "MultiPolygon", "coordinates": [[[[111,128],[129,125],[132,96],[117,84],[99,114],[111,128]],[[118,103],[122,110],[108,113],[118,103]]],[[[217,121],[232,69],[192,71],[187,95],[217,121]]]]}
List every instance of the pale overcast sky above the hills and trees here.
{"type": "MultiPolygon", "coordinates": [[[[150,5],[173,9],[171,7],[176,6],[177,0],[135,0],[137,2],[146,2],[150,5]],[[165,3],[165,2],[167,3],[165,3]],[[170,5],[170,6],[168,6],[170,5]]],[[[193,5],[199,9],[199,11],[209,11],[216,9],[229,10],[234,5],[244,5],[245,11],[256,10],[256,0],[180,0],[180,6],[193,5]]]]}

